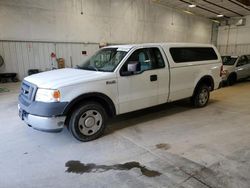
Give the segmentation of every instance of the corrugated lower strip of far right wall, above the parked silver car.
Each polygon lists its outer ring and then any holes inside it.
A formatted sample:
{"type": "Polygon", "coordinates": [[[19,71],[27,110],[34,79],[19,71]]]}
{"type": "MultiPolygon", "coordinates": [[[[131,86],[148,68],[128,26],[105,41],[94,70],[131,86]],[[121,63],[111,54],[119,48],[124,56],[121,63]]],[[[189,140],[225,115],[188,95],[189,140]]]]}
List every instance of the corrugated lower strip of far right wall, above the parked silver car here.
{"type": "Polygon", "coordinates": [[[250,44],[219,45],[221,55],[243,55],[250,54],[250,44]]]}

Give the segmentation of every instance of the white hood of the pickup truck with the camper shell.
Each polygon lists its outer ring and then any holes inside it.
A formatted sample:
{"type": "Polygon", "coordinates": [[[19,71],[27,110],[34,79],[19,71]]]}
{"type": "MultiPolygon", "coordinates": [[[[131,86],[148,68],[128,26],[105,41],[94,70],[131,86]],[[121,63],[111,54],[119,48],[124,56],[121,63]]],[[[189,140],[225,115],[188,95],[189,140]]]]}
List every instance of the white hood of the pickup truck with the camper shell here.
{"type": "Polygon", "coordinates": [[[68,85],[113,78],[115,78],[115,73],[113,72],[66,68],[34,74],[24,78],[24,80],[35,84],[39,88],[58,89],[68,85]]]}

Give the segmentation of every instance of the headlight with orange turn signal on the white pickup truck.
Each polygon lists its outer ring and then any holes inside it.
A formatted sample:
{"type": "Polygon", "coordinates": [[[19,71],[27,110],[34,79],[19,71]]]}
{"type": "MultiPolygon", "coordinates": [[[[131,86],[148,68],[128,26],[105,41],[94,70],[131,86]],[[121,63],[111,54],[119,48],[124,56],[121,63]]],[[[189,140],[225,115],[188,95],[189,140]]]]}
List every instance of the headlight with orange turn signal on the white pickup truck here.
{"type": "Polygon", "coordinates": [[[36,92],[36,101],[40,102],[59,102],[61,94],[59,90],[38,89],[36,92]]]}

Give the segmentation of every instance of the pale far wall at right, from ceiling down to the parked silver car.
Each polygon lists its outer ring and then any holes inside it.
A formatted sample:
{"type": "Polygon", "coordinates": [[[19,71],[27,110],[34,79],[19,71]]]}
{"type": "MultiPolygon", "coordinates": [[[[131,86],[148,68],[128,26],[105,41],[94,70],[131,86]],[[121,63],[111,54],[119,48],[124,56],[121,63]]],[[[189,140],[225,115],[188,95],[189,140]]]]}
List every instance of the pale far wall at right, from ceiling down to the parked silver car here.
{"type": "Polygon", "coordinates": [[[245,26],[219,27],[218,48],[222,55],[250,54],[250,16],[245,26]]]}

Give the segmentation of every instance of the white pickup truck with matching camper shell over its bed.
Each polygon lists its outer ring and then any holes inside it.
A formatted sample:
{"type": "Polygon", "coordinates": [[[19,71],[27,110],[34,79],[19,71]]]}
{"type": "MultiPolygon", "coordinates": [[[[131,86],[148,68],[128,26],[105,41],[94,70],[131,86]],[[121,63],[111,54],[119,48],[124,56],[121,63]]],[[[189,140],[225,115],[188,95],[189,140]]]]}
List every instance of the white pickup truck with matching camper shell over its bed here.
{"type": "Polygon", "coordinates": [[[209,44],[159,43],[109,46],[77,69],[24,79],[19,116],[42,131],[68,126],[80,141],[101,136],[107,118],[191,98],[204,107],[221,82],[222,60],[209,44]]]}

